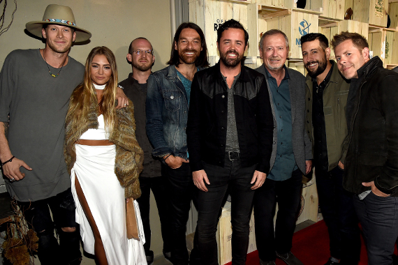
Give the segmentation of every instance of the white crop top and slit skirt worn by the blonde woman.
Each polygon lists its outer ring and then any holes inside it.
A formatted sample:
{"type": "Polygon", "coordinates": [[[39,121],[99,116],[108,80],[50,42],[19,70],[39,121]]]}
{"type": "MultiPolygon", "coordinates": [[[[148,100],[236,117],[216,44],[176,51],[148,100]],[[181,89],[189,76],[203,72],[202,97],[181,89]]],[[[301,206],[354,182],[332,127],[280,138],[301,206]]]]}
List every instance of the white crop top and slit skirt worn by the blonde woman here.
{"type": "MultiPolygon", "coordinates": [[[[98,116],[98,130],[89,129],[80,139],[104,139],[103,116],[98,116]]],[[[138,203],[134,201],[140,241],[127,239],[126,200],[124,188],[115,175],[116,146],[87,146],[75,144],[76,162],[71,172],[72,194],[76,203],[76,222],[84,250],[94,255],[94,234],[80,205],[75,189],[78,177],[84,197],[89,204],[98,231],[101,234],[106,258],[110,265],[147,265],[143,244],[142,221],[138,203]]]]}

